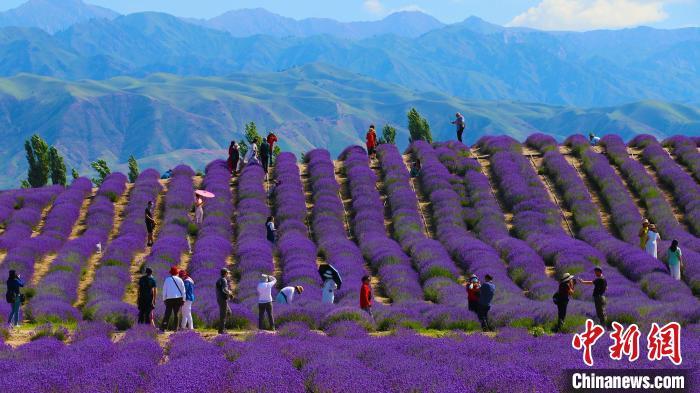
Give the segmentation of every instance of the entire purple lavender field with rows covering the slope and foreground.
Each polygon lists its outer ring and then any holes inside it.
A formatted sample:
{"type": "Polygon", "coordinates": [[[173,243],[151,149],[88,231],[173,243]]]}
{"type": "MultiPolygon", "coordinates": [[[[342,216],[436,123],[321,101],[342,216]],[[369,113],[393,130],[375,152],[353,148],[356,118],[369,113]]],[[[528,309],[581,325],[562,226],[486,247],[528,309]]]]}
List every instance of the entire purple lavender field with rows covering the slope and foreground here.
{"type": "MultiPolygon", "coordinates": [[[[175,167],[99,188],[0,193],[0,275],[27,283],[23,326],[0,330],[0,386],[22,392],[557,392],[563,372],[587,368],[572,334],[596,320],[592,286],[579,285],[564,333],[553,333],[552,294],[564,273],[586,280],[600,267],[608,318],[646,332],[682,325],[683,363],[611,360],[610,339],[594,368],[700,368],[700,150],[698,141],[615,135],[591,147],[574,135],[525,141],[487,136],[474,146],[359,146],[339,157],[282,153],[270,168],[232,178],[213,160],[195,175],[175,167]],[[411,177],[410,165],[422,169],[411,177]],[[269,180],[280,180],[274,192],[269,180]],[[201,226],[194,190],[214,193],[201,226]],[[146,246],[148,201],[155,243],[146,246]],[[274,216],[277,241],[266,239],[274,216]],[[659,229],[659,259],[639,248],[643,218],[659,229]],[[671,240],[683,251],[682,281],[666,265],[671,240]],[[102,251],[97,252],[97,244],[102,251]],[[335,304],[321,303],[318,264],[338,269],[335,304]],[[135,281],[170,266],[194,279],[195,332],[158,335],[135,324],[135,281]],[[215,335],[215,281],[233,272],[231,334],[215,335]],[[261,273],[304,287],[275,304],[276,333],[257,332],[261,273]],[[373,314],[359,308],[372,275],[373,314]],[[467,308],[465,277],[491,275],[497,288],[483,334],[467,308]],[[49,324],[51,327],[49,328],[49,324]],[[47,334],[48,332],[48,334],[47,334]]],[[[0,283],[5,290],[4,278],[0,283]]],[[[157,302],[156,318],[164,312],[157,302]]],[[[0,305],[3,326],[9,304],[0,305]]],[[[700,386],[700,385],[697,385],[700,386]]]]}

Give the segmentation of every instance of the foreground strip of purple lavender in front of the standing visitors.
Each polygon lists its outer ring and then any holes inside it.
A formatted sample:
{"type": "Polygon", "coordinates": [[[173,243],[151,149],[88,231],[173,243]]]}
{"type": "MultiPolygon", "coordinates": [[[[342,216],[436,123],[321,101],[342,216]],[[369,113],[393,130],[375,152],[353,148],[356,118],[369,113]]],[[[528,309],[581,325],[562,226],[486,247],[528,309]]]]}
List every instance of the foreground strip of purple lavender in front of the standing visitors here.
{"type": "MultiPolygon", "coordinates": [[[[559,392],[569,386],[565,369],[588,368],[569,335],[533,337],[505,328],[495,338],[453,333],[431,338],[401,330],[371,337],[352,322],[337,322],[328,335],[290,324],[278,335],[211,341],[194,332],[171,336],[161,348],[150,327],[131,329],[114,342],[108,326],[80,325],[71,344],[42,338],[12,349],[0,343],[1,386],[31,392],[559,392]],[[556,361],[553,361],[556,354],[556,361]],[[508,361],[504,361],[507,359],[508,361]],[[516,361],[516,359],[526,361],[516,361]]],[[[642,340],[642,347],[646,344],[642,340]]],[[[609,337],[592,349],[599,369],[664,369],[668,360],[611,360],[609,337]]],[[[700,378],[700,336],[684,331],[687,380],[700,378]]]]}

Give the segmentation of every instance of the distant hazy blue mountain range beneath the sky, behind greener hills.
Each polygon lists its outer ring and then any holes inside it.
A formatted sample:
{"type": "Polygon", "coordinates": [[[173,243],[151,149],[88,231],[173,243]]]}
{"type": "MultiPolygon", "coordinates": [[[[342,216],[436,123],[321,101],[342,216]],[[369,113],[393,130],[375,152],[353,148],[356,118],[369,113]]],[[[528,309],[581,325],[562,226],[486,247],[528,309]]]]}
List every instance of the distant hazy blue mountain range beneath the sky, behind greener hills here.
{"type": "Polygon", "coordinates": [[[90,19],[53,35],[0,29],[0,76],[226,76],[317,62],[470,100],[586,107],[700,101],[698,28],[541,32],[470,18],[416,38],[233,37],[171,15],[139,13],[90,19]]]}

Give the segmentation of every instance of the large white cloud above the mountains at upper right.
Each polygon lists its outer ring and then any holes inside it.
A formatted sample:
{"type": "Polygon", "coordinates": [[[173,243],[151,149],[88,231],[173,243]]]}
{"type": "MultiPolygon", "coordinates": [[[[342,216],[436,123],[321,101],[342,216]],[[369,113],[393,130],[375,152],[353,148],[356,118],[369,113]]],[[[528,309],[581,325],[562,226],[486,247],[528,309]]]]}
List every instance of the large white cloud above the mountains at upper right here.
{"type": "Polygon", "coordinates": [[[542,0],[513,18],[509,26],[542,30],[622,28],[668,17],[669,0],[542,0]]]}

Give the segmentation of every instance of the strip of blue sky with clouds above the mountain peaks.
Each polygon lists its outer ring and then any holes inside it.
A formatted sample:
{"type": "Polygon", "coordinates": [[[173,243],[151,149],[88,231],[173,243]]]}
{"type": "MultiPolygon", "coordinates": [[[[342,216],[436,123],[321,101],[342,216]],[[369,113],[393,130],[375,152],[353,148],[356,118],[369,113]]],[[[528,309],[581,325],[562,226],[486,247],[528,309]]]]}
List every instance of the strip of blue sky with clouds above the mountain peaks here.
{"type": "MultiPolygon", "coordinates": [[[[13,8],[25,0],[0,0],[13,8]]],[[[700,25],[700,0],[87,0],[121,13],[162,11],[209,18],[231,9],[263,7],[294,17],[374,20],[398,10],[421,10],[444,22],[470,15],[501,25],[589,30],[648,25],[700,25]]]]}

